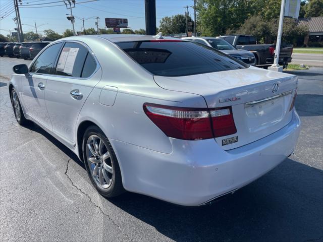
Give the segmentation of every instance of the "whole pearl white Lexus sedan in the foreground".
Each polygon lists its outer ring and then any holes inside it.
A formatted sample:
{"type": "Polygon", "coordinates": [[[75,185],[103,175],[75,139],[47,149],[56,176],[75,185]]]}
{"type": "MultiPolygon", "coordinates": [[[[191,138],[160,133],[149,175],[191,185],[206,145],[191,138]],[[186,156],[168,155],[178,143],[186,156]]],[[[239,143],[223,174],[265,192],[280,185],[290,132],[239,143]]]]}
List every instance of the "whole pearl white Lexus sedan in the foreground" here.
{"type": "Polygon", "coordinates": [[[73,36],[13,70],[17,122],[71,149],[108,198],[204,205],[285,160],[300,132],[297,76],[190,41],[73,36]]]}

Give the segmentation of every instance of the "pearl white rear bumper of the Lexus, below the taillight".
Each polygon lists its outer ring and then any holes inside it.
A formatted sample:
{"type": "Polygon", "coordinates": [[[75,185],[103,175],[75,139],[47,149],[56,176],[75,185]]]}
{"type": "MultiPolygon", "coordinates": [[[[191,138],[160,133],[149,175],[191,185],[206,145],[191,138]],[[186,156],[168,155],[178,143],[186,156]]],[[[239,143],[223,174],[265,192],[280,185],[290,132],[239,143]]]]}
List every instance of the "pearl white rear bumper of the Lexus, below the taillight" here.
{"type": "MultiPolygon", "coordinates": [[[[251,183],[290,155],[297,143],[300,119],[251,144],[225,151],[214,139],[170,139],[171,154],[111,140],[124,188],[184,206],[199,206],[251,183]]],[[[153,141],[152,141],[153,142],[153,141]]]]}

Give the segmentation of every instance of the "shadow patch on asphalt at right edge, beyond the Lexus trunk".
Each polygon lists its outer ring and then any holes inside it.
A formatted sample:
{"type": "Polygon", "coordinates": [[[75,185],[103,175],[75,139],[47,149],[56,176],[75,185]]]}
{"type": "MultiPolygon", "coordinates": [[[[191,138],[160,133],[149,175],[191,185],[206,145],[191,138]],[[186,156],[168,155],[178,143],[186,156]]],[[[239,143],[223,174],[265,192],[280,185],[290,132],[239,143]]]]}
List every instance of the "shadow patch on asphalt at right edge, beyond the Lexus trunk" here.
{"type": "Polygon", "coordinates": [[[295,100],[295,108],[300,116],[323,115],[323,95],[299,94],[295,100]]]}

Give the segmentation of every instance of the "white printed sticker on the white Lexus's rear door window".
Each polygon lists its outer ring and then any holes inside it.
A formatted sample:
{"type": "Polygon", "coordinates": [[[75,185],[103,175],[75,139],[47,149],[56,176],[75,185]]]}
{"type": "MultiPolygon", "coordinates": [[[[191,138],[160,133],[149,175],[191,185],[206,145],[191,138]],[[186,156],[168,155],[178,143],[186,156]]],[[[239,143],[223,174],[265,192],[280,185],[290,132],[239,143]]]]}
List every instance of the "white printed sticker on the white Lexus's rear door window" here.
{"type": "Polygon", "coordinates": [[[72,74],[79,49],[80,48],[63,48],[57,64],[57,70],[67,74],[72,74]]]}

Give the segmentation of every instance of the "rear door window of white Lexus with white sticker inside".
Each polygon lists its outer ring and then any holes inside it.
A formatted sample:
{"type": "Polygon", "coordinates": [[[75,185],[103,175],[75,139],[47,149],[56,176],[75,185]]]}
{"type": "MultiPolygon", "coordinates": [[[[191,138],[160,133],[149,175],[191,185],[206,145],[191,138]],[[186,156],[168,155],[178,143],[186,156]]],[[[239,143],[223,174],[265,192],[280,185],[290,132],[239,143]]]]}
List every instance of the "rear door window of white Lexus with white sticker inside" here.
{"type": "Polygon", "coordinates": [[[81,77],[87,48],[79,43],[66,42],[59,57],[55,75],[81,77]]]}

